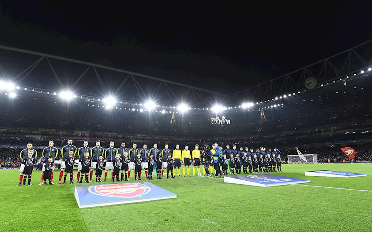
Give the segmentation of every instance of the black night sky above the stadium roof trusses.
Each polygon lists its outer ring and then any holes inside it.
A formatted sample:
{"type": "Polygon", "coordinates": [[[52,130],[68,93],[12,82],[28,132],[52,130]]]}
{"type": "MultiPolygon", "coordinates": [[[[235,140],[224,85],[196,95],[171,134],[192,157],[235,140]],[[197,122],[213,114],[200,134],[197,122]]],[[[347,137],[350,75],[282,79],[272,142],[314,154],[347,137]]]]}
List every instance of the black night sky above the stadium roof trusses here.
{"type": "Polygon", "coordinates": [[[298,9],[102,4],[3,4],[0,44],[204,88],[218,81],[228,93],[363,43],[372,31],[369,13],[348,1],[298,9]]]}

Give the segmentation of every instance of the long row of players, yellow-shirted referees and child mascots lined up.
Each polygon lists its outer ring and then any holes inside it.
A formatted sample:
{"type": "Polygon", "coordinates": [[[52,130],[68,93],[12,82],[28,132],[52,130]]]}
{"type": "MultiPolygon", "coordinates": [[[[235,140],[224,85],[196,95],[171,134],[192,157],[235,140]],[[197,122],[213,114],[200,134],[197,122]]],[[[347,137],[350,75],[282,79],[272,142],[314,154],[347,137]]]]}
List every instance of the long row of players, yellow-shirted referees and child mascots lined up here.
{"type": "MultiPolygon", "coordinates": [[[[121,148],[115,148],[114,142],[110,142],[110,147],[106,150],[100,146],[100,141],[96,141],[96,146],[93,148],[88,147],[88,141],[84,141],[83,147],[77,148],[72,145],[73,140],[69,139],[67,145],[61,148],[61,171],[57,184],[62,183],[62,177],[64,177],[63,184],[66,183],[67,173],[70,173],[70,184],[75,183],[73,181],[74,176],[74,163],[78,163],[77,181],[82,183],[83,178],[85,182],[92,182],[93,170],[95,169],[96,182],[101,182],[101,175],[105,170],[104,182],[107,180],[108,171],[111,170],[111,181],[128,181],[130,180],[131,170],[134,170],[134,180],[141,180],[142,170],[145,170],[145,175],[148,180],[153,180],[153,168],[156,168],[157,179],[162,179],[164,169],[167,169],[167,178],[175,178],[176,172],[178,177],[181,177],[180,167],[183,165],[183,177],[190,176],[190,165],[193,164],[193,176],[197,169],[198,176],[202,176],[200,173],[200,166],[203,164],[203,175],[210,177],[215,171],[214,178],[228,175],[228,169],[230,174],[241,174],[243,167],[243,173],[259,173],[259,172],[271,172],[282,171],[280,151],[274,148],[272,151],[269,149],[266,151],[265,147],[254,150],[250,150],[245,147],[240,147],[240,150],[236,150],[236,145],[226,145],[226,149],[223,150],[217,143],[212,145],[210,148],[208,145],[203,147],[203,150],[199,150],[199,145],[195,145],[195,149],[190,152],[189,145],[185,145],[184,150],[180,150],[179,144],[173,151],[169,149],[169,144],[164,145],[163,150],[157,148],[157,144],[153,145],[150,150],[147,149],[147,144],[143,145],[143,148],[139,150],[137,143],[132,143],[132,148],[128,149],[125,147],[125,142],[121,143],[121,148]],[[77,157],[76,157],[77,153],[77,157]],[[222,170],[221,170],[222,168],[222,170]],[[253,170],[253,171],[252,171],[253,170]],[[170,174],[170,177],[169,177],[170,174]],[[120,179],[119,179],[120,176],[120,179]]],[[[55,160],[58,156],[58,149],[54,147],[54,141],[49,140],[49,146],[45,147],[42,151],[42,175],[41,183],[39,185],[54,184],[53,172],[55,169],[55,160]]],[[[32,148],[32,143],[27,144],[27,148],[20,152],[21,166],[19,184],[17,186],[25,186],[26,180],[28,179],[28,186],[31,186],[31,177],[33,166],[37,163],[37,151],[32,148]],[[22,184],[23,180],[23,184],[22,184]]]]}

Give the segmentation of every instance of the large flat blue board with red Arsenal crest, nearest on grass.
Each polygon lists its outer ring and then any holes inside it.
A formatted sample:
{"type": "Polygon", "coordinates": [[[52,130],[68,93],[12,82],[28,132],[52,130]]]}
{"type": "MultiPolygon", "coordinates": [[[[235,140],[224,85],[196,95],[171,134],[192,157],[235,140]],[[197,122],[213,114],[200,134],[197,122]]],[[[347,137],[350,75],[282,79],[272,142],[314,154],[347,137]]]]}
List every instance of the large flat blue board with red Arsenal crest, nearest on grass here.
{"type": "Polygon", "coordinates": [[[78,185],[75,198],[79,208],[176,198],[177,195],[150,182],[78,185]]]}

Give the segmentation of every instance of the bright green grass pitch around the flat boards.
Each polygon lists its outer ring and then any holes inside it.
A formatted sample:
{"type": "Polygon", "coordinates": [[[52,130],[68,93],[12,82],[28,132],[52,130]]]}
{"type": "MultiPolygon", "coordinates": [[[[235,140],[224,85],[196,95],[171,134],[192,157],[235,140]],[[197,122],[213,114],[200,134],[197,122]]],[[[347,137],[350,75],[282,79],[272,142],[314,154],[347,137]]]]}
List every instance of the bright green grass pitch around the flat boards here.
{"type": "MultiPolygon", "coordinates": [[[[308,185],[372,190],[372,164],[291,164],[282,170],[275,174],[310,179],[308,185]],[[324,169],[368,176],[304,176],[305,170],[324,169]]],[[[55,170],[54,182],[58,173],[55,170]]],[[[33,186],[16,187],[19,171],[0,170],[0,231],[355,232],[372,228],[372,192],[295,185],[264,188],[176,177],[151,180],[176,193],[176,199],[79,209],[73,184],[38,186],[40,176],[41,171],[33,171],[33,186]]]]}

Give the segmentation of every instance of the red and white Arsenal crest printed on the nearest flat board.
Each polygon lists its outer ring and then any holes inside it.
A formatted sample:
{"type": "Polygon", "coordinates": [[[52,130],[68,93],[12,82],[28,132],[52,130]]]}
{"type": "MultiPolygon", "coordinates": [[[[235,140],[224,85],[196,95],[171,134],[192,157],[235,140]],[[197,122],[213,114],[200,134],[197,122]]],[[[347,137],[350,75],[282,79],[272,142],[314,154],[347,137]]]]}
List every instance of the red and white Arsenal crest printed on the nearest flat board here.
{"type": "Polygon", "coordinates": [[[89,192],[107,197],[133,198],[145,195],[151,188],[140,183],[102,184],[90,186],[89,192]]]}

